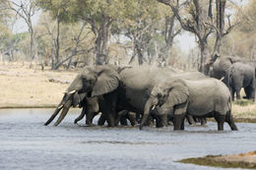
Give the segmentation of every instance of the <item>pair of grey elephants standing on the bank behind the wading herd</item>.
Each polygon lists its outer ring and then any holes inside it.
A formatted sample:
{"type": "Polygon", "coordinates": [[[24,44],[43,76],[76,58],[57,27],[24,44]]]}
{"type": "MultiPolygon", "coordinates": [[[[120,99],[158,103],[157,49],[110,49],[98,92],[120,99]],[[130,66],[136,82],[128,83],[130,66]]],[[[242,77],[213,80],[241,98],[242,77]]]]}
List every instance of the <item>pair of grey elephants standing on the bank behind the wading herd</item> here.
{"type": "Polygon", "coordinates": [[[210,76],[216,79],[224,78],[234,99],[240,98],[240,89],[244,87],[246,97],[255,100],[255,67],[237,56],[220,57],[213,64],[210,76]]]}

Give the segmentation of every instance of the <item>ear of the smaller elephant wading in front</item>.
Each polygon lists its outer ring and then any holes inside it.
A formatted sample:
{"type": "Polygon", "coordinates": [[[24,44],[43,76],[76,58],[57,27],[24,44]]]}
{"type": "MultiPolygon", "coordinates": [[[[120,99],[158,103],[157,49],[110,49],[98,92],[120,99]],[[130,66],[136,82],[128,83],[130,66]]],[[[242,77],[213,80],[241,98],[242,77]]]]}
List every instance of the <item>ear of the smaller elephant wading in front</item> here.
{"type": "Polygon", "coordinates": [[[169,85],[169,94],[165,102],[166,107],[184,103],[189,96],[187,85],[183,81],[175,81],[169,85]]]}

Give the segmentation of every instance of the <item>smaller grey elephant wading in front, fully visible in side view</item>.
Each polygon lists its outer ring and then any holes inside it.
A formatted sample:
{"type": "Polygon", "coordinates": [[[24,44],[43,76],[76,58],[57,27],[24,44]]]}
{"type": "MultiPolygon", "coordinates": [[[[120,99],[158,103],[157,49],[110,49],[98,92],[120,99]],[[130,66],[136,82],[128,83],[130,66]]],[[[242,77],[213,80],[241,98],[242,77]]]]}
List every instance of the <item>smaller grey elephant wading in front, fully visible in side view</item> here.
{"type": "Polygon", "coordinates": [[[174,130],[184,130],[186,115],[214,117],[219,131],[224,130],[224,122],[231,130],[237,130],[231,115],[230,92],[224,83],[216,79],[176,80],[155,85],[146,102],[140,129],[155,106],[166,112],[173,110],[174,130]]]}

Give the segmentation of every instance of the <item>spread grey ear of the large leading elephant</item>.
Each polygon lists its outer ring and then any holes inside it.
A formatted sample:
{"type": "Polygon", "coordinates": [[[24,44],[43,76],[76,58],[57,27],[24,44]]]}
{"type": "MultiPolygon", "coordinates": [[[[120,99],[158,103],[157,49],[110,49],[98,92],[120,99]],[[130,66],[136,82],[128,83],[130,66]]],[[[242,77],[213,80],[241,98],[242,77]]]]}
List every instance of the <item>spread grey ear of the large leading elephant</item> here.
{"type": "Polygon", "coordinates": [[[102,95],[113,91],[119,85],[119,75],[112,69],[103,69],[97,73],[96,84],[92,96],[102,95]]]}

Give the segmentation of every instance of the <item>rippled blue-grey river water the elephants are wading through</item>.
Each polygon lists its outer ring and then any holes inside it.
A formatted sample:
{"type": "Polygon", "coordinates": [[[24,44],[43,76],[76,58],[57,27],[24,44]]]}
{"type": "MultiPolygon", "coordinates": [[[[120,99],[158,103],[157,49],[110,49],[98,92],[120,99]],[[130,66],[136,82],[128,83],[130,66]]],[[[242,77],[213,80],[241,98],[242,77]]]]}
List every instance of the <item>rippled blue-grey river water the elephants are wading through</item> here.
{"type": "MultiPolygon", "coordinates": [[[[145,128],[99,128],[73,124],[71,110],[58,127],[43,123],[51,109],[0,110],[0,169],[220,169],[182,164],[176,160],[256,149],[256,124],[227,125],[218,132],[188,127],[185,132],[145,128]]],[[[82,122],[84,123],[84,121],[82,122]]]]}

